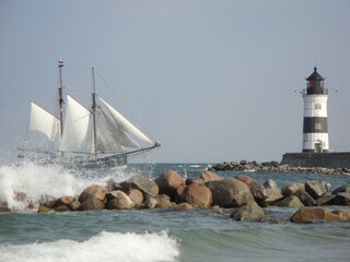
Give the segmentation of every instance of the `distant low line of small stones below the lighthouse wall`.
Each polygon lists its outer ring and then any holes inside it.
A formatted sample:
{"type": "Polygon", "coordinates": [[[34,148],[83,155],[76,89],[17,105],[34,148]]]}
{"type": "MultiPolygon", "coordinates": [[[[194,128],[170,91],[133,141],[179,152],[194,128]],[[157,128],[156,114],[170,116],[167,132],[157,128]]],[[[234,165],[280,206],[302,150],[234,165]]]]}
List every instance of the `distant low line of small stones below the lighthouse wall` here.
{"type": "Polygon", "coordinates": [[[212,171],[258,171],[258,172],[302,172],[302,174],[325,174],[325,175],[343,175],[350,174],[350,168],[327,168],[327,167],[292,167],[289,165],[281,165],[279,162],[264,162],[257,163],[255,160],[240,160],[240,162],[222,162],[213,165],[212,171]]]}

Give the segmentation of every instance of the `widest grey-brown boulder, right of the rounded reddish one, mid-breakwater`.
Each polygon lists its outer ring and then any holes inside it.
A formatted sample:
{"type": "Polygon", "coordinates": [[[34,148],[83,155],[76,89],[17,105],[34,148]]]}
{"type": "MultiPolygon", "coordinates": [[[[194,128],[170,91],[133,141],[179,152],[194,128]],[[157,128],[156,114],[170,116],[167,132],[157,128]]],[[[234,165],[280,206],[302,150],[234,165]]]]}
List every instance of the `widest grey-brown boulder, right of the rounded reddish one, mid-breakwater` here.
{"type": "Polygon", "coordinates": [[[248,186],[237,179],[209,181],[206,186],[212,192],[212,205],[240,207],[254,202],[248,186]]]}

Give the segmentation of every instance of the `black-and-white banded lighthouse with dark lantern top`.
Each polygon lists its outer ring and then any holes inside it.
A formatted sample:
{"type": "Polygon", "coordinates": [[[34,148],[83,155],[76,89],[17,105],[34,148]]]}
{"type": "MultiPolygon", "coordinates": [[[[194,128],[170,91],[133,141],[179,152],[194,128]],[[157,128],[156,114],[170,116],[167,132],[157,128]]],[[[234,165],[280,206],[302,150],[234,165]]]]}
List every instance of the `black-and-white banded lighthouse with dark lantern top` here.
{"type": "Polygon", "coordinates": [[[329,152],[327,99],[328,90],[324,88],[325,79],[314,68],[314,72],[306,79],[303,90],[304,124],[303,153],[329,152]]]}

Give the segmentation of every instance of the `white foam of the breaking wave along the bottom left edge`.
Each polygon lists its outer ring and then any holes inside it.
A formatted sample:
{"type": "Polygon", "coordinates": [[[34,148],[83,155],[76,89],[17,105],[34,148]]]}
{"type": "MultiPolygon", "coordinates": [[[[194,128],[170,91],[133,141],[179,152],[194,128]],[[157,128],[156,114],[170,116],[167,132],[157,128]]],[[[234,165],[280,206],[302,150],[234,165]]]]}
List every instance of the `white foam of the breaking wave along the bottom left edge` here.
{"type": "Polygon", "coordinates": [[[0,262],[4,261],[176,261],[179,255],[177,241],[166,231],[158,234],[102,231],[86,241],[61,239],[55,242],[27,245],[0,245],[0,262]]]}

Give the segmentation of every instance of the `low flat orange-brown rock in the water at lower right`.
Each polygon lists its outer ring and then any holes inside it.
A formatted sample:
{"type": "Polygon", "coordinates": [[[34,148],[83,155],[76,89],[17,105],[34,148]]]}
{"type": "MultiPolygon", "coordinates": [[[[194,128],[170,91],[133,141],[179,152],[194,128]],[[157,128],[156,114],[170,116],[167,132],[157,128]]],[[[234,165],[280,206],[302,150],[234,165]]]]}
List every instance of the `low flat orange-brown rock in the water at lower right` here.
{"type": "Polygon", "coordinates": [[[293,223],[335,222],[341,221],[341,217],[320,207],[302,207],[292,215],[291,221],[293,223]]]}

